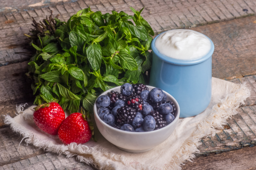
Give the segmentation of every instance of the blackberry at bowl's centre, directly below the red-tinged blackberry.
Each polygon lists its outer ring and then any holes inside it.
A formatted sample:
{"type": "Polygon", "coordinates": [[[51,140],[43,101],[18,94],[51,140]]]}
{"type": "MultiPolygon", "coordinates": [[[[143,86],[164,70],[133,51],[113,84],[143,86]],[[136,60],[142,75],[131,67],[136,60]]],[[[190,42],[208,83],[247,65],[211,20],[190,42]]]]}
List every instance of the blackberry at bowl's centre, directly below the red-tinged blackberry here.
{"type": "Polygon", "coordinates": [[[118,126],[122,126],[123,124],[131,124],[134,117],[136,117],[135,109],[127,105],[117,109],[116,122],[118,126]]]}

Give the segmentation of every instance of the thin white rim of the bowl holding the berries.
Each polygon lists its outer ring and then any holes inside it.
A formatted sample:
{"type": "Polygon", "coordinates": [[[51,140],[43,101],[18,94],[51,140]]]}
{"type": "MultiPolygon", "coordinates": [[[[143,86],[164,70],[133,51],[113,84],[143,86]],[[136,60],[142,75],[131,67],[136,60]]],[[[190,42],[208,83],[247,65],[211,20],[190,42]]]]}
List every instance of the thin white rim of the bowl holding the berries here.
{"type": "MultiPolygon", "coordinates": [[[[99,95],[99,96],[106,95],[108,92],[112,91],[113,89],[120,88],[120,87],[121,87],[121,86],[117,86],[117,87],[111,88],[111,89],[109,89],[109,90],[107,90],[107,91],[104,91],[104,92],[103,92],[101,95],[99,95]]],[[[155,88],[155,87],[150,86],[150,85],[147,85],[147,87],[150,87],[150,88],[152,88],[152,89],[155,88]]],[[[166,95],[170,95],[170,94],[167,93],[166,91],[163,91],[163,92],[165,92],[166,95]]],[[[99,96],[98,96],[98,97],[99,97],[99,96]]],[[[172,95],[170,95],[170,96],[172,96],[172,95]]],[[[97,99],[98,99],[98,97],[97,97],[97,99]]],[[[164,129],[166,129],[167,127],[170,127],[171,125],[175,124],[175,122],[177,122],[178,119],[179,119],[179,117],[180,117],[180,106],[179,106],[177,100],[176,100],[173,96],[172,96],[172,98],[173,98],[173,99],[175,100],[175,102],[177,103],[177,105],[176,105],[177,116],[175,117],[175,119],[174,119],[169,125],[167,125],[166,127],[163,127],[163,128],[161,128],[161,129],[157,129],[157,130],[148,131],[148,132],[128,132],[128,131],[125,131],[125,130],[116,129],[115,127],[112,127],[112,126],[106,124],[105,122],[102,121],[102,119],[99,118],[99,115],[98,115],[98,113],[97,113],[96,101],[94,102],[94,105],[93,105],[93,113],[94,113],[94,116],[97,117],[97,119],[99,120],[99,122],[101,122],[101,123],[104,124],[104,125],[107,125],[109,128],[111,128],[112,130],[114,130],[114,131],[116,131],[116,132],[127,133],[127,134],[144,134],[144,133],[149,134],[149,133],[156,133],[156,132],[159,132],[159,131],[161,131],[161,130],[164,130],[164,129]]],[[[96,100],[97,100],[97,99],[96,99],[96,100]]]]}

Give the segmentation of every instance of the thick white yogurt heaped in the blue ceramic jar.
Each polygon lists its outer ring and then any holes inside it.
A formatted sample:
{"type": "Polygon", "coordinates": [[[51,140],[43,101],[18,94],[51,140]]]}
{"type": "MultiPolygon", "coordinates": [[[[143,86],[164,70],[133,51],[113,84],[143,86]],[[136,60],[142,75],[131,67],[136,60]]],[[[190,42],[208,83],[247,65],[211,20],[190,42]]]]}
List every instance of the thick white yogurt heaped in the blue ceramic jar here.
{"type": "Polygon", "coordinates": [[[199,32],[176,29],[160,34],[155,41],[155,47],[167,57],[194,60],[204,57],[210,51],[211,42],[199,32]]]}

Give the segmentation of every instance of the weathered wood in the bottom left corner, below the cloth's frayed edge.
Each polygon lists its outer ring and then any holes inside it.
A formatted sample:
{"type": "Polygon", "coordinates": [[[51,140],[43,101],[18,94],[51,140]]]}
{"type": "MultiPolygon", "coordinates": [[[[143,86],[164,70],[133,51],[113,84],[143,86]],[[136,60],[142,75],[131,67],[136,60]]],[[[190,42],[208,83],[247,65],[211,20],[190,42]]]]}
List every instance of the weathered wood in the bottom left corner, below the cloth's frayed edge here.
{"type": "Polygon", "coordinates": [[[87,164],[76,161],[76,157],[46,153],[42,149],[27,145],[22,136],[12,132],[9,127],[0,129],[0,170],[94,170],[87,164]]]}

